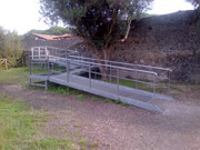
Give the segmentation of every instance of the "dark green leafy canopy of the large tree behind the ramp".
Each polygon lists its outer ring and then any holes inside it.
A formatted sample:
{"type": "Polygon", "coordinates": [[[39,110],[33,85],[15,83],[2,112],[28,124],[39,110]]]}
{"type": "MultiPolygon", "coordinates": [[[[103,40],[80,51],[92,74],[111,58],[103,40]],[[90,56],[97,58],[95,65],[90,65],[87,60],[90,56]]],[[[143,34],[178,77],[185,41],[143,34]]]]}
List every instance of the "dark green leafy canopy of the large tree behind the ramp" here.
{"type": "Polygon", "coordinates": [[[40,13],[47,23],[62,21],[74,27],[96,58],[109,60],[113,43],[127,39],[132,19],[148,10],[152,1],[40,0],[40,13]]]}

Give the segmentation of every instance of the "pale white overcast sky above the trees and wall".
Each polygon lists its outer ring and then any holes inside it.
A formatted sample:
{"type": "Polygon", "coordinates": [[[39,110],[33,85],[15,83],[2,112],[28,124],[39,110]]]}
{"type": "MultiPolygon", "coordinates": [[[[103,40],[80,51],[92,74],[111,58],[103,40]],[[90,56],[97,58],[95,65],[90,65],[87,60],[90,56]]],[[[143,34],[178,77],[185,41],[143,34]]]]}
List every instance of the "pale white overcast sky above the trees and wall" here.
{"type": "MultiPolygon", "coordinates": [[[[23,34],[32,29],[48,29],[39,21],[39,0],[0,0],[0,26],[23,34]]],[[[193,7],[184,0],[154,0],[149,13],[164,14],[179,10],[191,10],[193,7]]]]}

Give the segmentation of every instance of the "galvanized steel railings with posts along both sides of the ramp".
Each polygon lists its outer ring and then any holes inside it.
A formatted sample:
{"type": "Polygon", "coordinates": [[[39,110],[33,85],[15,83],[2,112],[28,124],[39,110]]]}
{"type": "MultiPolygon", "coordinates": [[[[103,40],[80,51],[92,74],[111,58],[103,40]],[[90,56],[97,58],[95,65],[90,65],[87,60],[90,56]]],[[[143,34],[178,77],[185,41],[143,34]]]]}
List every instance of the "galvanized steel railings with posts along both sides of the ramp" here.
{"type": "MultiPolygon", "coordinates": [[[[32,48],[32,56],[30,57],[31,66],[36,66],[37,63],[43,63],[43,69],[47,70],[48,77],[50,77],[52,73],[59,73],[59,71],[53,70],[53,66],[59,64],[59,62],[62,62],[62,67],[64,66],[66,69],[62,70],[67,72],[67,81],[70,81],[70,67],[71,66],[79,66],[79,68],[84,69],[86,72],[88,72],[89,78],[89,87],[91,88],[91,80],[97,79],[98,76],[107,76],[109,78],[110,83],[113,83],[112,80],[116,79],[116,84],[118,86],[118,92],[120,92],[120,80],[128,80],[136,82],[134,88],[140,89],[138,87],[138,83],[148,84],[152,87],[152,92],[157,93],[157,87],[158,84],[157,79],[160,78],[160,71],[167,73],[167,80],[168,80],[168,91],[170,94],[170,73],[171,69],[160,68],[160,67],[151,67],[151,66],[143,66],[143,64],[132,64],[132,63],[126,63],[126,62],[118,62],[118,61],[109,61],[109,60],[100,60],[94,58],[88,58],[82,57],[83,54],[73,51],[73,50],[64,50],[64,49],[58,49],[58,48],[51,48],[51,47],[36,47],[32,48]],[[38,51],[38,52],[36,52],[38,51]],[[51,53],[53,56],[51,56],[51,53]],[[42,61],[41,61],[42,60],[42,61]],[[53,60],[53,61],[52,61],[53,60]],[[39,62],[40,61],[40,62],[39,62]],[[108,72],[107,74],[96,71],[97,68],[107,68],[108,72]],[[131,76],[133,76],[132,79],[122,77],[122,72],[128,71],[131,76]],[[149,74],[151,76],[151,81],[143,81],[140,79],[140,74],[149,74]],[[93,78],[92,78],[93,76],[93,78]]],[[[31,67],[30,67],[30,73],[31,73],[31,67]]]]}

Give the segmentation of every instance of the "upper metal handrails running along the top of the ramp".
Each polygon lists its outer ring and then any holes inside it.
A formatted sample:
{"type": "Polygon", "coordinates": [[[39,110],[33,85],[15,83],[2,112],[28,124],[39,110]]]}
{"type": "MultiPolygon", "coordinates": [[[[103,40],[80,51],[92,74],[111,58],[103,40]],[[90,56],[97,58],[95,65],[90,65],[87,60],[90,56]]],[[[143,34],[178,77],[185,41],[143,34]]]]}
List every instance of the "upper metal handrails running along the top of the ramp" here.
{"type": "MultiPolygon", "coordinates": [[[[32,48],[32,51],[38,51],[38,56],[37,53],[32,52],[32,59],[34,60],[40,60],[43,59],[46,60],[47,57],[49,57],[49,60],[51,59],[59,59],[59,60],[64,60],[66,58],[68,58],[69,61],[73,61],[77,63],[87,63],[87,64],[92,64],[92,66],[97,66],[97,67],[106,67],[106,68],[110,68],[110,69],[121,69],[121,70],[126,70],[126,71],[136,71],[136,72],[142,72],[142,73],[149,73],[149,72],[153,72],[157,73],[157,80],[168,80],[168,84],[166,83],[159,83],[156,84],[157,87],[164,87],[168,88],[169,94],[170,94],[170,87],[171,87],[171,72],[172,70],[169,68],[161,68],[161,67],[152,67],[152,66],[144,66],[144,64],[133,64],[133,63],[127,63],[127,62],[119,62],[119,61],[111,61],[111,60],[102,60],[102,59],[94,59],[93,57],[86,57],[86,54],[83,54],[83,52],[79,52],[79,51],[74,51],[74,50],[64,50],[64,49],[60,49],[60,48],[54,48],[54,47],[48,47],[48,46],[43,46],[43,47],[34,47],[32,48]],[[49,51],[58,51],[58,52],[47,52],[47,50],[49,51]],[[43,53],[42,53],[43,52],[43,53]],[[53,54],[53,56],[52,56],[53,54]],[[57,56],[57,57],[54,57],[57,56]],[[79,60],[79,61],[78,61],[79,60]],[[88,63],[91,62],[91,63],[88,63]],[[133,69],[133,70],[131,70],[133,69]],[[140,70],[140,71],[139,71],[140,70]],[[159,74],[162,76],[159,76],[159,74]]],[[[56,60],[53,60],[56,61],[56,60]]],[[[56,63],[56,62],[53,62],[56,63]]],[[[152,74],[153,74],[152,73],[152,74]]],[[[96,72],[96,74],[100,74],[98,72],[96,72]]],[[[141,82],[143,83],[143,81],[140,81],[138,78],[140,78],[140,76],[138,74],[133,74],[137,76],[136,82],[141,82]]],[[[110,77],[112,78],[112,76],[110,77]]],[[[127,79],[127,78],[126,78],[127,79]]],[[[140,78],[141,79],[141,78],[140,78]]]]}

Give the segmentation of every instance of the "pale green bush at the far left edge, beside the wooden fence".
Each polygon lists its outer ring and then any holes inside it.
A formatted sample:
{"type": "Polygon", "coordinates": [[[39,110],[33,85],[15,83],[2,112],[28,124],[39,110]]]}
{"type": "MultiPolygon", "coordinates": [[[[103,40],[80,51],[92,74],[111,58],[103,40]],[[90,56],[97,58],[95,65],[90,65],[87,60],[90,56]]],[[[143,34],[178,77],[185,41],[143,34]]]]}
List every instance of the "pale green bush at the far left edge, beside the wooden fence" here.
{"type": "MultiPolygon", "coordinates": [[[[19,67],[22,64],[22,44],[21,36],[16,31],[0,27],[0,59],[8,59],[8,67],[19,67]]],[[[1,67],[0,67],[1,68],[1,67]]]]}

